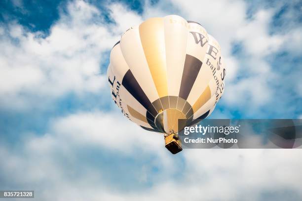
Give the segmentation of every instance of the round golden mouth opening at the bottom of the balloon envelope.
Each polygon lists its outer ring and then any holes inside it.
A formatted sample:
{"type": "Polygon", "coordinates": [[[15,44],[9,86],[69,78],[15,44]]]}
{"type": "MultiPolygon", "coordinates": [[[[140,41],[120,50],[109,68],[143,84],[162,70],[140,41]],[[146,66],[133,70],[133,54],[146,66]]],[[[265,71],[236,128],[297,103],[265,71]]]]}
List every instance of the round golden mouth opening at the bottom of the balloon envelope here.
{"type": "Polygon", "coordinates": [[[155,117],[155,125],[164,133],[178,133],[186,126],[186,121],[178,120],[187,120],[182,111],[174,108],[160,110],[155,117]]]}

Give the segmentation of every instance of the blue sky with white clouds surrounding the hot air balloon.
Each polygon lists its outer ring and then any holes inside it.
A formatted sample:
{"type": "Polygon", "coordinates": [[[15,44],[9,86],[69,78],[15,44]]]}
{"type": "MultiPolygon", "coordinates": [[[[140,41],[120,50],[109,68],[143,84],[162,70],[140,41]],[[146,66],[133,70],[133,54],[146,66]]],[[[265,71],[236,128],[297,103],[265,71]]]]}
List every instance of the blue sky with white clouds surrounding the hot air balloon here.
{"type": "Polygon", "coordinates": [[[302,119],[301,0],[0,1],[0,190],[36,200],[302,200],[302,151],[184,150],[126,120],[106,72],[121,34],[178,14],[222,46],[211,118],[302,119]]]}

